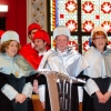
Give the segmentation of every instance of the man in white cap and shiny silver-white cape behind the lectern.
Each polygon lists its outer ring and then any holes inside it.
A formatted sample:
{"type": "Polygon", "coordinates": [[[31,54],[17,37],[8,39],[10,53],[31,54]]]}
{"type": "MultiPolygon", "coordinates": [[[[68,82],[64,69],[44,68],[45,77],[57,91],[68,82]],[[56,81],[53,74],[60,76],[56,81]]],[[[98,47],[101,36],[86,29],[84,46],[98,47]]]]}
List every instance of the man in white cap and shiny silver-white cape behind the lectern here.
{"type": "MultiPolygon", "coordinates": [[[[53,31],[53,40],[56,41],[56,48],[50,49],[43,56],[39,70],[47,69],[56,71],[70,77],[78,77],[82,70],[88,67],[88,63],[83,56],[74,50],[73,47],[69,47],[69,39],[71,38],[70,30],[65,27],[58,27],[53,31]]],[[[79,109],[78,89],[73,87],[74,93],[74,111],[79,109]]]]}

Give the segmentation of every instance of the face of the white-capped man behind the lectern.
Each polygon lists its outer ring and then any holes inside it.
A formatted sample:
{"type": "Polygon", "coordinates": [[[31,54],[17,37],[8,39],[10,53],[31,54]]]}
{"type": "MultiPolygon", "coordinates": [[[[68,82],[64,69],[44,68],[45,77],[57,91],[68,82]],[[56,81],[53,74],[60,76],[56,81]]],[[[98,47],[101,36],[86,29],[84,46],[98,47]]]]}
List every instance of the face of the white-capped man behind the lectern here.
{"type": "Polygon", "coordinates": [[[56,47],[60,51],[64,51],[68,48],[69,39],[67,36],[58,36],[56,38],[56,47]]]}

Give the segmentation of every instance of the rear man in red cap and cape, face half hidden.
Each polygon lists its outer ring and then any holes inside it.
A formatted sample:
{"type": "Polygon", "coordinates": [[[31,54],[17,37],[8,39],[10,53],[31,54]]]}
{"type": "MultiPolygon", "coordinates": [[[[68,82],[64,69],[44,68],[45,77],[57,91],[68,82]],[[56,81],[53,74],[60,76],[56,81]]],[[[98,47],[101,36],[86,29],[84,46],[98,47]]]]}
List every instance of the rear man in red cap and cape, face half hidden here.
{"type": "Polygon", "coordinates": [[[28,38],[30,39],[30,42],[24,44],[19,51],[19,54],[21,54],[34,69],[38,68],[38,61],[36,60],[38,53],[34,50],[34,43],[32,41],[32,38],[38,30],[41,30],[41,27],[38,23],[31,23],[28,27],[28,38]]]}

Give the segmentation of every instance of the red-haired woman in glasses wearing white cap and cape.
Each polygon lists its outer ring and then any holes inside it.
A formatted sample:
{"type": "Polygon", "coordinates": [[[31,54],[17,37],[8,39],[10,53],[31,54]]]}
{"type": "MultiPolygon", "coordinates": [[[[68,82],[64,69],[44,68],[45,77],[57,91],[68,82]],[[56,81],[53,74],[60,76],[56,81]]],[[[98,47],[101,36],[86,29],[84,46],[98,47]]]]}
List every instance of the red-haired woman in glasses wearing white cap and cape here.
{"type": "Polygon", "coordinates": [[[94,28],[91,40],[92,46],[84,53],[90,67],[83,71],[83,111],[111,111],[111,49],[107,48],[107,31],[94,28]]]}

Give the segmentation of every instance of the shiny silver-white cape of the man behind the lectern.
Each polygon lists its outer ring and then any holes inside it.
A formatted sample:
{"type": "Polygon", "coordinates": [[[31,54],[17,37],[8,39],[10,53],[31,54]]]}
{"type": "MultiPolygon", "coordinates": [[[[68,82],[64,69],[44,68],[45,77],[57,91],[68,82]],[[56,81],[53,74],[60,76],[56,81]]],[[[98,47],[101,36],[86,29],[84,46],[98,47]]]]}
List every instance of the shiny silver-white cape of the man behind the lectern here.
{"type": "Polygon", "coordinates": [[[50,49],[43,56],[39,70],[48,69],[71,77],[78,77],[88,67],[88,62],[74,48],[69,48],[67,52],[59,53],[56,49],[50,49]]]}

